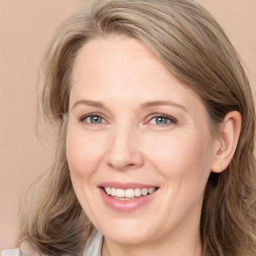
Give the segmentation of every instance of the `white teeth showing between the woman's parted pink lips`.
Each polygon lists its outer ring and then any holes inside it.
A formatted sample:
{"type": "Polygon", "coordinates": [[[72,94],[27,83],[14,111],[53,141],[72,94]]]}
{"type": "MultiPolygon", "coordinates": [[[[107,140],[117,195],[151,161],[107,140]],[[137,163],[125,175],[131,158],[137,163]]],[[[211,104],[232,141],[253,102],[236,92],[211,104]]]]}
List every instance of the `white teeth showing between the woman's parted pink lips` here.
{"type": "Polygon", "coordinates": [[[146,196],[148,194],[153,193],[158,187],[150,187],[150,188],[128,188],[121,189],[115,187],[101,187],[103,191],[109,196],[117,200],[131,200],[139,197],[146,196]]]}

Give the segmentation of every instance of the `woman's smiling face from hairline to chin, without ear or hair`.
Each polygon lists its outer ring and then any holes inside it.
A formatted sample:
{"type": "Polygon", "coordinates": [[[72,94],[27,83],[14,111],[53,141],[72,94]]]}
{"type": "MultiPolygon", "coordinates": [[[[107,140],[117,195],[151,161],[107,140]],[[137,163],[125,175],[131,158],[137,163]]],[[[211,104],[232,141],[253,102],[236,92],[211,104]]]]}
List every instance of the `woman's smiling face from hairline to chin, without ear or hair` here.
{"type": "Polygon", "coordinates": [[[66,154],[77,198],[106,239],[198,235],[215,144],[199,97],[140,41],[94,39],[81,48],[66,154]]]}

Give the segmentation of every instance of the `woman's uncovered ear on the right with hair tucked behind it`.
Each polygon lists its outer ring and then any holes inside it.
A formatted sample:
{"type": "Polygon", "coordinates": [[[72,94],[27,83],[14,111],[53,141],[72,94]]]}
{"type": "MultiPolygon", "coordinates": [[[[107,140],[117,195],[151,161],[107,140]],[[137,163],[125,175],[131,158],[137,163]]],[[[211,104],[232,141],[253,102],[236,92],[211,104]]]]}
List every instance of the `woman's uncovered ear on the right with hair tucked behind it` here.
{"type": "Polygon", "coordinates": [[[223,171],[231,161],[241,131],[241,114],[237,111],[228,112],[221,125],[219,139],[214,146],[211,171],[223,171]]]}

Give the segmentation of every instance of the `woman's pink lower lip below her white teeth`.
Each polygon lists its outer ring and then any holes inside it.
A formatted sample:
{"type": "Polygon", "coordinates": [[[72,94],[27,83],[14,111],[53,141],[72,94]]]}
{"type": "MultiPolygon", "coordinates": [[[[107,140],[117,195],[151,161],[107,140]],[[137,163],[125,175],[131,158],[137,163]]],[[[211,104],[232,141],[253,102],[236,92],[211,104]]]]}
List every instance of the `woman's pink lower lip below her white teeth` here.
{"type": "Polygon", "coordinates": [[[105,204],[110,207],[111,209],[114,209],[116,211],[133,211],[136,210],[143,205],[145,205],[148,201],[152,200],[156,191],[144,195],[135,199],[130,199],[130,200],[118,200],[114,199],[113,197],[107,195],[102,188],[99,188],[101,196],[103,198],[103,201],[105,204]]]}

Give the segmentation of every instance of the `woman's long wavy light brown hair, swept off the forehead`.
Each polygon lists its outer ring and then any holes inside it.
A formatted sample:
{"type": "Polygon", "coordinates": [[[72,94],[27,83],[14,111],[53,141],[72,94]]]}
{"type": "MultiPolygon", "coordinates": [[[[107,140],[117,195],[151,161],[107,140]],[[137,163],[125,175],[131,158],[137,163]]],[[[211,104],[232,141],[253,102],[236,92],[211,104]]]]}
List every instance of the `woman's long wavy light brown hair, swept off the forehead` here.
{"type": "MultiPolygon", "coordinates": [[[[20,244],[49,255],[75,255],[93,225],[72,188],[65,155],[72,67],[88,40],[110,34],[135,37],[202,99],[213,135],[226,113],[237,110],[242,127],[228,167],[211,173],[202,206],[203,255],[256,255],[255,113],[249,82],[237,53],[215,19],[192,0],[96,0],[67,18],[44,54],[39,72],[39,112],[57,127],[52,167],[32,204],[22,203],[20,244]],[[28,214],[29,213],[29,214],[28,214]]],[[[30,192],[31,194],[31,192],[30,192]]]]}

